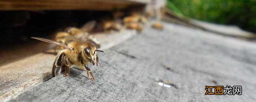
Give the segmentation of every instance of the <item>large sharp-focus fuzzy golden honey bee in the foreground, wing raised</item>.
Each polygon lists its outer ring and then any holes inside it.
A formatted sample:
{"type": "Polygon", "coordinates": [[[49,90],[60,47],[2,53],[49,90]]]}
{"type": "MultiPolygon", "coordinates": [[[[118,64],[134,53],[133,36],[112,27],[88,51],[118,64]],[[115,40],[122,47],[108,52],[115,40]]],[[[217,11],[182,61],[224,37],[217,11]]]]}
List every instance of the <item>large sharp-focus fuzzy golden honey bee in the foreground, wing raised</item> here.
{"type": "Polygon", "coordinates": [[[52,67],[52,76],[55,77],[60,73],[63,73],[64,71],[66,74],[64,76],[70,75],[70,68],[73,67],[78,70],[86,71],[87,77],[90,78],[92,81],[95,80],[91,69],[89,69],[88,65],[92,63],[92,65],[98,66],[99,63],[99,56],[97,55],[96,51],[104,52],[101,50],[97,50],[96,46],[91,43],[90,41],[87,42],[80,42],[80,41],[73,41],[68,43],[67,45],[53,41],[48,40],[44,38],[37,38],[32,37],[37,40],[45,41],[48,43],[52,43],[58,46],[62,46],[65,49],[62,49],[60,52],[58,52],[55,61],[53,63],[52,67]]]}

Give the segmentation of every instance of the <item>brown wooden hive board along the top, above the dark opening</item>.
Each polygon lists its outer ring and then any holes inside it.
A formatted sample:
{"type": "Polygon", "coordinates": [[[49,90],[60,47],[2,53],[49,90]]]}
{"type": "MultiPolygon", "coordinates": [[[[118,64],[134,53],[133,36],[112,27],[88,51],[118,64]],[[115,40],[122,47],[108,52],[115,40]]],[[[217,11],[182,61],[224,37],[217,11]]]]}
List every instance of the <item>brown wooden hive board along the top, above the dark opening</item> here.
{"type": "Polygon", "coordinates": [[[0,10],[113,10],[147,0],[1,0],[0,10]]]}

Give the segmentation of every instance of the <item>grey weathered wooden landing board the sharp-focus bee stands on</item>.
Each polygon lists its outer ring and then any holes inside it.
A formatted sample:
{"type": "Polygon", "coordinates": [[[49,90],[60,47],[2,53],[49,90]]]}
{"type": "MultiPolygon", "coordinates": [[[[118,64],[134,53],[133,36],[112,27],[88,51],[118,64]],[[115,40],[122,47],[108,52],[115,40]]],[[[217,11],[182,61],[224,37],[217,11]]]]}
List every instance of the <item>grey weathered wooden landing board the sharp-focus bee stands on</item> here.
{"type": "Polygon", "coordinates": [[[164,23],[106,49],[102,65],[72,69],[10,102],[255,102],[255,42],[164,23]],[[165,66],[169,67],[167,70],[165,66]],[[164,87],[159,80],[175,84],[164,87]],[[242,95],[205,95],[205,86],[241,85],[242,95]]]}

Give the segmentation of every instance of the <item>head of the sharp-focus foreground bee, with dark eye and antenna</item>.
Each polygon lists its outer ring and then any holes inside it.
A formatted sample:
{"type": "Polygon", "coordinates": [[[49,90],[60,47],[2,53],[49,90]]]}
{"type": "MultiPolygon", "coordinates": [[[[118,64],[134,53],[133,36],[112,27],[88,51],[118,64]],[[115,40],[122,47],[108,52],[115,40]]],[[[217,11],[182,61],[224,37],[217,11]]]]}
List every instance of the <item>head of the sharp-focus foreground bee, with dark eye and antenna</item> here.
{"type": "Polygon", "coordinates": [[[92,65],[95,65],[95,63],[97,64],[97,61],[98,61],[96,51],[103,52],[101,50],[94,50],[93,53],[92,53],[92,51],[89,47],[84,48],[84,51],[83,51],[84,57],[86,57],[86,59],[88,59],[92,63],[92,65]]]}

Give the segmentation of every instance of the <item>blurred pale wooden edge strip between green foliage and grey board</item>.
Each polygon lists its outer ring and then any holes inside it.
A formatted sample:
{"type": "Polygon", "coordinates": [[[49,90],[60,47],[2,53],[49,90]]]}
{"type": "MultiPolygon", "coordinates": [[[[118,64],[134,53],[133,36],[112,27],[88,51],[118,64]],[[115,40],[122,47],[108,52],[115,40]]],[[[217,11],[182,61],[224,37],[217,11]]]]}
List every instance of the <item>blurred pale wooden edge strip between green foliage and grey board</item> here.
{"type": "Polygon", "coordinates": [[[203,21],[198,21],[190,18],[184,18],[177,16],[171,10],[165,9],[165,15],[163,16],[164,21],[174,22],[177,24],[181,24],[188,27],[193,27],[196,29],[206,30],[208,32],[212,32],[215,34],[235,37],[235,38],[243,38],[246,40],[255,40],[256,34],[251,32],[246,32],[241,30],[237,26],[227,26],[213,23],[206,23],[203,21]]]}

